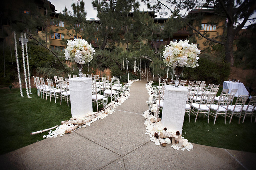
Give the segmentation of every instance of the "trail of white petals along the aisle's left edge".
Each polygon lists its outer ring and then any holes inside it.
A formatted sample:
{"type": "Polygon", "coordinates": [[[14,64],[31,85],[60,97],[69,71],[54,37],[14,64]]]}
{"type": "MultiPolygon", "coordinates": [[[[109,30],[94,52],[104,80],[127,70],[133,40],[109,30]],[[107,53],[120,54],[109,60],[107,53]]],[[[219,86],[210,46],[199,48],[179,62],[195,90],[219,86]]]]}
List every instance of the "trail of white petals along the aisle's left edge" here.
{"type": "MultiPolygon", "coordinates": [[[[133,82],[136,82],[136,81],[139,81],[139,79],[137,80],[130,80],[126,85],[128,85],[129,87],[132,85],[133,82]]],[[[126,86],[124,85],[124,86],[126,86]]],[[[103,119],[105,118],[106,116],[108,115],[111,115],[112,113],[115,112],[115,108],[119,105],[121,105],[125,100],[127,100],[130,96],[130,88],[128,88],[128,90],[124,93],[121,93],[121,97],[118,98],[118,102],[115,102],[115,101],[112,101],[111,103],[108,104],[108,108],[102,112],[99,113],[99,115],[97,117],[95,117],[94,119],[92,119],[90,122],[87,122],[85,123],[84,125],[82,126],[79,126],[79,128],[77,129],[80,129],[82,127],[86,127],[86,126],[90,126],[90,124],[92,122],[95,122],[97,120],[100,120],[100,119],[103,119]]],[[[93,115],[95,114],[95,112],[93,113],[88,113],[88,115],[93,115]]],[[[72,117],[72,119],[74,120],[76,118],[77,121],[83,121],[83,120],[88,120],[90,117],[72,117]]],[[[65,131],[71,127],[73,127],[74,125],[73,124],[63,124],[63,125],[60,125],[59,127],[56,128],[56,130],[52,131],[50,130],[49,131],[49,135],[44,135],[43,137],[45,138],[52,138],[52,137],[57,137],[58,135],[63,136],[65,134],[65,131]]],[[[76,130],[76,129],[75,129],[76,130]]],[[[75,130],[71,131],[71,132],[74,132],[75,130]]]]}

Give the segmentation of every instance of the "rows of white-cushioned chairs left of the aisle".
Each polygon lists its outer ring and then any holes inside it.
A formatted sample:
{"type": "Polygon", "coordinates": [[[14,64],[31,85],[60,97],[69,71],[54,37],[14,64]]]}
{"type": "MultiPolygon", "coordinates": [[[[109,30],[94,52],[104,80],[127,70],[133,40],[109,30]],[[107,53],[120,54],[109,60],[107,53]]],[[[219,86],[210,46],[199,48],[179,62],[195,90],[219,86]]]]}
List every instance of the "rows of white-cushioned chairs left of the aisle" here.
{"type": "MultiPolygon", "coordinates": [[[[86,77],[83,74],[83,77],[86,77]]],[[[54,83],[52,79],[46,79],[47,84],[44,82],[44,78],[34,77],[34,84],[36,85],[36,92],[38,96],[41,98],[44,96],[46,100],[48,97],[50,101],[52,97],[54,97],[54,101],[56,103],[56,99],[60,98],[60,104],[62,103],[62,99],[67,101],[69,106],[70,102],[70,91],[69,91],[69,78],[72,76],[69,74],[68,78],[54,76],[54,83]],[[54,85],[55,84],[55,85],[54,85]]],[[[76,75],[73,75],[73,78],[76,78],[76,75]]],[[[109,76],[99,76],[99,75],[87,75],[87,78],[92,79],[92,102],[96,104],[97,111],[99,111],[99,106],[103,104],[103,98],[109,98],[110,101],[114,100],[115,93],[116,96],[121,96],[122,90],[124,91],[122,84],[121,84],[121,77],[113,77],[110,78],[109,76]]]]}

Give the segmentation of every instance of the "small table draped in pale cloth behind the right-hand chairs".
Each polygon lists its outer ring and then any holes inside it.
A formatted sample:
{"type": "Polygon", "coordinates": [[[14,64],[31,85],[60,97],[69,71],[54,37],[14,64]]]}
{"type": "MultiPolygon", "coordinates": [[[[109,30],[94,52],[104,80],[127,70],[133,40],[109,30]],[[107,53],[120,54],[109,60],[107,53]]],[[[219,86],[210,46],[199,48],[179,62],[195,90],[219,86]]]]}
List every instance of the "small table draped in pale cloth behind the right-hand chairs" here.
{"type": "Polygon", "coordinates": [[[235,97],[238,97],[238,95],[248,95],[249,92],[246,90],[243,83],[233,82],[233,81],[224,81],[223,82],[223,89],[229,89],[229,92],[231,92],[232,89],[238,89],[235,97]]]}

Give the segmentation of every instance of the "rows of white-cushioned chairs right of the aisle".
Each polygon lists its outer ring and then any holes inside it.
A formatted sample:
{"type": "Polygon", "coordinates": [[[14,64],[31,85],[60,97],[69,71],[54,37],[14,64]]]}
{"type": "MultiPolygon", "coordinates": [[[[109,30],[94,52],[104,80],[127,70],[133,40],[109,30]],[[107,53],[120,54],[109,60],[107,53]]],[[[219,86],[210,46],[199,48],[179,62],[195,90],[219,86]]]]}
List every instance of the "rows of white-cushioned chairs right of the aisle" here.
{"type": "MultiPolygon", "coordinates": [[[[182,80],[179,86],[184,86],[184,84],[187,84],[187,80],[182,80]]],[[[174,81],[168,82],[167,79],[159,79],[159,85],[156,85],[158,91],[156,104],[159,109],[162,109],[164,104],[165,85],[174,85],[174,81]]],[[[185,86],[188,89],[185,113],[189,116],[189,122],[191,114],[196,116],[195,123],[198,116],[201,117],[201,115],[207,117],[208,123],[209,118],[213,117],[213,124],[215,124],[219,115],[224,117],[225,124],[227,117],[229,119],[228,122],[231,123],[233,116],[239,118],[238,123],[240,123],[241,119],[243,123],[247,115],[250,116],[251,122],[253,117],[254,122],[256,122],[256,114],[254,112],[256,111],[256,96],[252,96],[248,105],[245,105],[249,95],[238,95],[235,98],[238,89],[222,89],[220,95],[217,96],[219,86],[213,84],[206,86],[205,81],[188,81],[187,86],[185,86]]]]}

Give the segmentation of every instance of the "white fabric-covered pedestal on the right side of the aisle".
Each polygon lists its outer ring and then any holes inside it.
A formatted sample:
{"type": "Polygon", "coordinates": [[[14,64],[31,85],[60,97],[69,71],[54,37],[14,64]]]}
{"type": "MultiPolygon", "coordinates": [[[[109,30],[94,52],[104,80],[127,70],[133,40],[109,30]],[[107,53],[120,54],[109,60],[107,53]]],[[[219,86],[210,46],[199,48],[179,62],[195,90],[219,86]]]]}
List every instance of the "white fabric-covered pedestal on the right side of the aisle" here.
{"type": "Polygon", "coordinates": [[[179,130],[180,134],[182,133],[187,96],[188,89],[186,87],[165,85],[162,124],[169,130],[179,130]]]}

